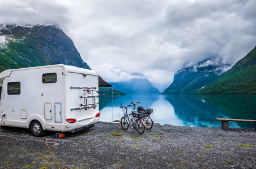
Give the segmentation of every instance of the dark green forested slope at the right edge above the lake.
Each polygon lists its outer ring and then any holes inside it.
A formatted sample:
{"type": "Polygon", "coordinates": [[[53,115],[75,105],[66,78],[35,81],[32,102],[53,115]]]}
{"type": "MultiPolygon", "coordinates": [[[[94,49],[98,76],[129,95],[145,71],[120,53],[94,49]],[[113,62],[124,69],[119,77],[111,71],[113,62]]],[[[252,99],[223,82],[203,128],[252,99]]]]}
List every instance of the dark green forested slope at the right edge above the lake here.
{"type": "Polygon", "coordinates": [[[216,82],[194,94],[256,94],[256,47],[216,82]]]}

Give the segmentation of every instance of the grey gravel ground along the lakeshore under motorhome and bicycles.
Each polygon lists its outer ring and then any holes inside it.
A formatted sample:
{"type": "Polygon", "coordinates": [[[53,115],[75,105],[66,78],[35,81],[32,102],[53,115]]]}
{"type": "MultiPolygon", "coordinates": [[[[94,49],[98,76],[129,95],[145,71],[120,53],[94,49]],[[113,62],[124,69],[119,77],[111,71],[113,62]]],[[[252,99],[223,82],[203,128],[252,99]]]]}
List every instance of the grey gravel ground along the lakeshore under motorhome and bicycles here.
{"type": "MultiPolygon", "coordinates": [[[[2,127],[0,168],[62,168],[44,143],[54,134],[38,138],[28,129],[2,127]]],[[[65,168],[256,168],[254,129],[155,124],[139,135],[99,122],[48,144],[65,168]]]]}

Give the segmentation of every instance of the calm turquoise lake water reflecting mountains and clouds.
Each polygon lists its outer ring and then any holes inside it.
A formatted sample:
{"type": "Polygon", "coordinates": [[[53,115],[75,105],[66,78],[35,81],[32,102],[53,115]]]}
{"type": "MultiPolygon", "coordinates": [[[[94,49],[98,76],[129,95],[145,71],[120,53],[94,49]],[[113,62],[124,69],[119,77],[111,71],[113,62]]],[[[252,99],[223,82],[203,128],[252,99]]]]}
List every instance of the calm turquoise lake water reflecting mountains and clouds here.
{"type": "MultiPolygon", "coordinates": [[[[120,103],[152,108],[151,117],[160,124],[221,127],[215,118],[256,119],[256,95],[100,95],[100,121],[121,119],[120,103]],[[113,111],[112,111],[113,110],[113,111]]],[[[131,111],[132,106],[128,108],[131,111]]],[[[229,122],[232,128],[254,128],[254,123],[229,122]]]]}

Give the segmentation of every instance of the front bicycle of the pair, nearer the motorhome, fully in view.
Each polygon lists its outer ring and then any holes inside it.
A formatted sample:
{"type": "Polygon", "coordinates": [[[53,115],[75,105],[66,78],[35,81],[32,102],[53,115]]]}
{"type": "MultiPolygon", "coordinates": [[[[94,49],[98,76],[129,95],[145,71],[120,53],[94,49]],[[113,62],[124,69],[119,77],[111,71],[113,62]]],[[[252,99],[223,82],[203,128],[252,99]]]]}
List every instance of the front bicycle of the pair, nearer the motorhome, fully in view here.
{"type": "MultiPolygon", "coordinates": [[[[127,130],[129,126],[131,129],[133,128],[136,130],[139,134],[143,134],[145,131],[145,124],[144,122],[140,119],[142,118],[141,116],[143,115],[142,113],[127,113],[127,107],[132,106],[132,105],[127,105],[127,106],[122,106],[122,103],[120,105],[120,108],[123,110],[123,117],[121,118],[121,126],[123,130],[127,130]]],[[[133,130],[133,132],[134,132],[133,130]]]]}

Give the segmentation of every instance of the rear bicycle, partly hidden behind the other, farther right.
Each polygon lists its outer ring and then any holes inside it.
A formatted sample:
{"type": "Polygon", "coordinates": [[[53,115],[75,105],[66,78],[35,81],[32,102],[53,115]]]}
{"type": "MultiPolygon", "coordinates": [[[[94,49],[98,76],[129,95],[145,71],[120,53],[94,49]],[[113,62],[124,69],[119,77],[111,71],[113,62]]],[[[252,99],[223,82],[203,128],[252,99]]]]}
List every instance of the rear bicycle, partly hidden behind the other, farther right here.
{"type": "Polygon", "coordinates": [[[135,110],[136,104],[140,102],[136,101],[135,103],[132,102],[130,104],[133,104],[133,111],[132,112],[138,112],[138,113],[143,113],[143,122],[145,124],[146,130],[150,130],[153,127],[153,119],[150,116],[151,113],[153,113],[153,109],[144,109],[142,106],[138,106],[138,111],[135,110]]]}

